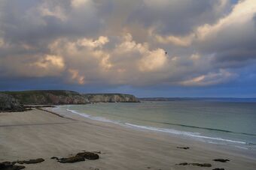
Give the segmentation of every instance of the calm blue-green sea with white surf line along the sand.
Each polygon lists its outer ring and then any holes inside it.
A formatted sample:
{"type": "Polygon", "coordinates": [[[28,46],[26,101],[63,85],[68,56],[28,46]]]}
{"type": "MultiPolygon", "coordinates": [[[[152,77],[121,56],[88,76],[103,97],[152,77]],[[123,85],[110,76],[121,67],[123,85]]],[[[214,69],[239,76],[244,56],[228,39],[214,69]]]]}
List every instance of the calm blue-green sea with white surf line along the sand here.
{"type": "Polygon", "coordinates": [[[140,130],[256,150],[256,103],[167,101],[59,106],[70,114],[140,130]]]}

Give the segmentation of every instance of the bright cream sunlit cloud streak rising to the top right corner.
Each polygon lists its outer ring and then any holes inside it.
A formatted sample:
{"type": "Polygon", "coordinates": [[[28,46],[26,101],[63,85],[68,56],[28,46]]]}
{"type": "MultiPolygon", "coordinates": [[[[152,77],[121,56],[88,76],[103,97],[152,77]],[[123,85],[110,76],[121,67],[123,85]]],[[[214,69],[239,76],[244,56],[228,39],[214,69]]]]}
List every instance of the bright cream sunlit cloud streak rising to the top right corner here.
{"type": "MultiPolygon", "coordinates": [[[[227,1],[221,1],[221,7],[226,3],[227,1]]],[[[149,34],[153,36],[158,43],[190,46],[197,41],[203,43],[203,41],[207,41],[209,38],[218,38],[218,35],[223,31],[227,31],[227,29],[236,29],[237,31],[245,31],[247,29],[247,31],[254,32],[254,23],[252,22],[254,13],[256,13],[256,3],[254,0],[239,1],[238,4],[233,6],[233,10],[227,16],[221,18],[217,23],[213,25],[200,25],[188,35],[161,36],[160,34],[154,33],[155,29],[151,29],[149,34]],[[245,25],[247,25],[247,27],[245,27],[245,25]]]]}

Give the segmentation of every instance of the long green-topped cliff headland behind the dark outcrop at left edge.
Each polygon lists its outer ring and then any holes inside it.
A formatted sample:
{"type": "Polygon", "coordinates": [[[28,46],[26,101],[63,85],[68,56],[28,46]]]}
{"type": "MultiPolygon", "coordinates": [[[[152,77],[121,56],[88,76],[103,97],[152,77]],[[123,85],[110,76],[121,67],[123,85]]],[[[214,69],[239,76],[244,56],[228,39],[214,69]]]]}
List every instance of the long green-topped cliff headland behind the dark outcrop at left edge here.
{"type": "Polygon", "coordinates": [[[75,91],[5,91],[24,105],[62,105],[98,102],[139,102],[130,94],[79,94],[75,91]]]}

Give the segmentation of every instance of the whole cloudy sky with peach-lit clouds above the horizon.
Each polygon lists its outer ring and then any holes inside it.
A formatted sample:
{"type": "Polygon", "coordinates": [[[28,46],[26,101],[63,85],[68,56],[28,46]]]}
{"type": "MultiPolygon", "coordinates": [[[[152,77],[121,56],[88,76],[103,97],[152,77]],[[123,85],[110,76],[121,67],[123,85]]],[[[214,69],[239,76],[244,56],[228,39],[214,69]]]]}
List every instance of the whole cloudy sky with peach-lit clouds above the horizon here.
{"type": "Polygon", "coordinates": [[[255,0],[1,0],[0,91],[256,97],[255,0]]]}

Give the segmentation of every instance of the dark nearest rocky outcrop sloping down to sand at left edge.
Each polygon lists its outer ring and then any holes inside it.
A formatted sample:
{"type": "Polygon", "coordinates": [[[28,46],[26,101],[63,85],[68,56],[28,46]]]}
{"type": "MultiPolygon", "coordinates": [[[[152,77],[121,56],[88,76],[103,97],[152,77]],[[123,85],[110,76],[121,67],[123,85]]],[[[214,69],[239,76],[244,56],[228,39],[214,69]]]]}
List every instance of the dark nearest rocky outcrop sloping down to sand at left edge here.
{"type": "Polygon", "coordinates": [[[22,112],[23,105],[8,94],[0,94],[0,112],[22,112]]]}

